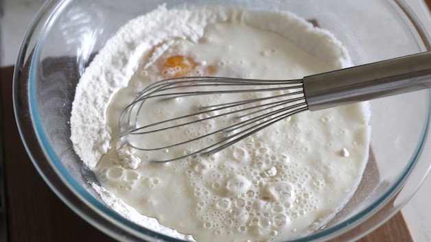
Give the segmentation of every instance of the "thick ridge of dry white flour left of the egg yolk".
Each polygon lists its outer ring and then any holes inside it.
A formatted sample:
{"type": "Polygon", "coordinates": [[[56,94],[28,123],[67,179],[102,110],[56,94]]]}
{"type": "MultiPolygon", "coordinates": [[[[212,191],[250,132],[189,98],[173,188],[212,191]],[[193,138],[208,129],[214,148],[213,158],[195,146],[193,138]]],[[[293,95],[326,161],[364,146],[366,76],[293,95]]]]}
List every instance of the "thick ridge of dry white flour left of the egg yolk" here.
{"type": "Polygon", "coordinates": [[[231,12],[171,10],[166,14],[166,11],[160,7],[119,29],[82,75],[73,101],[71,141],[86,165],[95,167],[108,152],[111,130],[106,125],[106,108],[113,95],[128,85],[139,63],[155,55],[150,53],[152,48],[175,38],[196,42],[206,25],[226,21],[231,12]]]}

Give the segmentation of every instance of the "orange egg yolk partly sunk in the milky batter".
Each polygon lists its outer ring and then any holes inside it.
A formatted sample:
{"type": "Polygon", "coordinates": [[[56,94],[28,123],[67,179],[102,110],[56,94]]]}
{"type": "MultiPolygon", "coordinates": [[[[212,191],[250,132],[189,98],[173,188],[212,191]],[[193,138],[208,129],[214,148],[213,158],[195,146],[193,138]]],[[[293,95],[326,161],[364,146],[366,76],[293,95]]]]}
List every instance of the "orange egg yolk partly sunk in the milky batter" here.
{"type": "Polygon", "coordinates": [[[171,56],[163,63],[163,76],[166,78],[184,77],[195,67],[196,62],[187,56],[171,56]]]}

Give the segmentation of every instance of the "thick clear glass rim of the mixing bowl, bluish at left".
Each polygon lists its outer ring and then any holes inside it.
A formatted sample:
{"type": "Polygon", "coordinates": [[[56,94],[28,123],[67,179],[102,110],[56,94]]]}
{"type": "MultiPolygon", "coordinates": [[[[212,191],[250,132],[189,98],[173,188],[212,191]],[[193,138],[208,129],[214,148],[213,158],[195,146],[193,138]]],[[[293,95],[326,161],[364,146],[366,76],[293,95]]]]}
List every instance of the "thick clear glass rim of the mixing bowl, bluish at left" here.
{"type": "MultiPolygon", "coordinates": [[[[423,42],[427,51],[431,50],[431,40],[426,34],[426,31],[423,30],[421,23],[417,21],[415,14],[412,14],[408,5],[404,3],[402,0],[394,0],[399,8],[408,16],[409,21],[417,30],[417,34],[419,34],[419,38],[423,42]]],[[[163,234],[159,234],[158,232],[154,232],[152,230],[148,230],[141,226],[138,226],[135,223],[132,223],[128,219],[121,217],[117,213],[113,212],[110,208],[108,208],[105,204],[95,199],[93,195],[91,195],[86,189],[84,189],[78,182],[76,182],[75,178],[71,176],[71,174],[67,171],[67,169],[62,165],[58,157],[56,156],[53,149],[51,149],[49,145],[49,139],[47,138],[47,134],[45,134],[45,130],[43,125],[40,122],[40,116],[38,114],[38,106],[37,101],[35,100],[36,95],[36,82],[32,82],[35,77],[37,77],[37,66],[30,65],[30,70],[28,73],[27,79],[22,78],[23,71],[25,70],[25,64],[27,61],[32,62],[38,60],[38,51],[39,47],[36,41],[36,45],[34,49],[29,49],[29,47],[33,48],[32,40],[38,36],[38,34],[43,34],[43,29],[47,24],[45,21],[50,19],[49,14],[54,14],[54,10],[56,10],[64,1],[56,1],[51,0],[45,2],[43,8],[41,8],[36,15],[36,18],[30,25],[30,28],[25,35],[23,40],[23,45],[21,46],[19,52],[19,59],[16,62],[16,66],[18,68],[15,69],[14,72],[14,90],[13,90],[13,103],[14,103],[14,112],[16,123],[19,128],[19,133],[23,140],[23,144],[25,149],[27,150],[27,154],[29,154],[34,166],[40,173],[40,176],[43,177],[45,182],[50,186],[50,188],[62,199],[67,206],[69,206],[72,210],[75,211],[80,217],[84,220],[89,221],[93,226],[102,230],[106,234],[109,234],[111,237],[115,239],[125,239],[128,241],[141,241],[141,239],[159,239],[162,241],[183,241],[179,239],[174,239],[172,237],[167,237],[163,234]],[[40,33],[38,32],[40,31],[40,33]],[[32,53],[30,53],[33,51],[32,53]],[[26,91],[28,93],[26,93],[26,91]],[[28,105],[27,105],[28,104],[28,105]],[[25,111],[23,111],[23,108],[25,111]],[[26,114],[30,114],[29,117],[33,119],[30,120],[26,117],[26,114]],[[29,132],[31,131],[31,132],[29,132]],[[88,208],[91,208],[90,210],[88,208]]],[[[33,40],[34,41],[34,40],[33,40]]],[[[431,95],[429,92],[428,96],[431,95]]],[[[429,97],[428,97],[429,99],[429,97]]],[[[312,234],[307,237],[303,237],[301,239],[297,239],[295,241],[318,241],[320,239],[333,239],[334,237],[347,233],[352,230],[355,226],[361,223],[366,223],[366,220],[372,217],[378,210],[382,207],[388,205],[393,199],[394,196],[399,193],[399,191],[403,188],[406,180],[408,180],[408,176],[412,169],[414,169],[417,159],[421,156],[422,149],[425,145],[425,139],[428,136],[428,129],[430,124],[430,102],[428,101],[428,120],[425,122],[423,134],[421,137],[421,141],[417,147],[417,152],[412,160],[410,160],[409,165],[405,167],[404,173],[400,176],[400,178],[392,184],[391,188],[386,191],[384,195],[377,199],[373,204],[366,207],[357,215],[350,217],[346,221],[339,223],[336,226],[328,228],[323,232],[318,232],[316,234],[312,234]]],[[[427,171],[423,172],[423,178],[425,179],[427,171]]],[[[417,189],[419,188],[417,185],[417,189]]],[[[408,196],[408,199],[415,193],[415,191],[410,191],[411,194],[408,196]]],[[[405,204],[408,199],[402,202],[405,204]]],[[[398,212],[401,206],[398,206],[396,209],[388,211],[386,215],[383,216],[380,223],[375,223],[374,226],[369,226],[364,231],[359,232],[351,239],[358,239],[362,237],[367,232],[377,228],[386,220],[390,219],[392,215],[398,212]]]]}

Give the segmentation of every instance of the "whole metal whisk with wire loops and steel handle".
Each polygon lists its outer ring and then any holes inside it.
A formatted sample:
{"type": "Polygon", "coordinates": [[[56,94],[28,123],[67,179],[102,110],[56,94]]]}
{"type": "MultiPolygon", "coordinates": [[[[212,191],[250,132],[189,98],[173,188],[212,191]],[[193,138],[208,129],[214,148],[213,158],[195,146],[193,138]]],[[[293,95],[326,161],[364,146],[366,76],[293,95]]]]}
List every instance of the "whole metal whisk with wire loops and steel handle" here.
{"type": "Polygon", "coordinates": [[[431,88],[431,52],[300,80],[179,77],[155,82],[142,90],[122,112],[119,130],[135,149],[161,152],[155,157],[164,159],[155,162],[169,162],[215,154],[305,110],[425,88],[431,88]],[[211,104],[197,106],[196,101],[211,104]],[[172,116],[169,110],[184,112],[172,116]]]}

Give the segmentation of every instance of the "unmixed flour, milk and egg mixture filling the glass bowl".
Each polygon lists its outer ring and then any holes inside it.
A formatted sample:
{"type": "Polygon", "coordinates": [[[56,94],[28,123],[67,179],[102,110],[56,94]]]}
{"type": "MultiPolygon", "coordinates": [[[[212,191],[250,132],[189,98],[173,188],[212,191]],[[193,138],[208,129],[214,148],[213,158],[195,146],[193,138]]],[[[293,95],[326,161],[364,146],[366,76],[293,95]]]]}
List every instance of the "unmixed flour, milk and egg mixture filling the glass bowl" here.
{"type": "MultiPolygon", "coordinates": [[[[141,226],[209,242],[302,237],[334,217],[362,178],[368,104],[303,112],[213,156],[163,164],[118,138],[119,115],[142,88],[168,77],[286,80],[350,65],[332,34],[288,12],[161,6],[119,29],[86,69],[73,102],[71,140],[106,204],[141,226]]],[[[139,119],[166,119],[213,101],[178,98],[139,119]]],[[[130,142],[163,144],[217,125],[211,120],[130,142]]]]}

